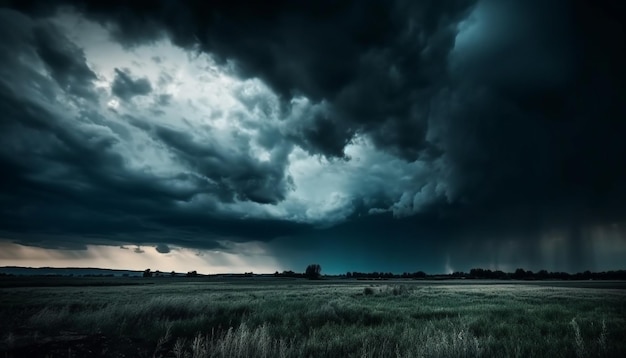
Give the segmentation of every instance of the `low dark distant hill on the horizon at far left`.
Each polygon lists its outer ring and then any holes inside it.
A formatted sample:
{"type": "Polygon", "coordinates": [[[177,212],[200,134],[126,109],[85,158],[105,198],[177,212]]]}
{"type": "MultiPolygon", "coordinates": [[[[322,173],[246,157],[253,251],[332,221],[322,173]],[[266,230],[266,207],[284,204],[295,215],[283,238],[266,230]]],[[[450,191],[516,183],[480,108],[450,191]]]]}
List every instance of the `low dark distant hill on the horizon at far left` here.
{"type": "Polygon", "coordinates": [[[0,274],[14,276],[141,276],[143,271],[83,267],[0,267],[0,274]]]}

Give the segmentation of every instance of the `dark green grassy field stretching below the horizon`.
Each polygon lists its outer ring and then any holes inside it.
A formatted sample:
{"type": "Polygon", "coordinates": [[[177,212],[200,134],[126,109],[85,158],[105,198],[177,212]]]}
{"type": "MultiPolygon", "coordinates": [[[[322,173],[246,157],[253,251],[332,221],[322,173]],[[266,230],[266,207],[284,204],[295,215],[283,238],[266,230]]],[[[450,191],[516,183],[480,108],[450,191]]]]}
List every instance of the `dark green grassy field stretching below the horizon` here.
{"type": "Polygon", "coordinates": [[[0,357],[626,356],[623,282],[24,280],[0,357]]]}

